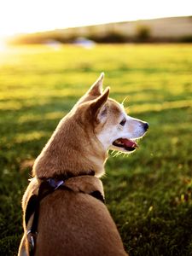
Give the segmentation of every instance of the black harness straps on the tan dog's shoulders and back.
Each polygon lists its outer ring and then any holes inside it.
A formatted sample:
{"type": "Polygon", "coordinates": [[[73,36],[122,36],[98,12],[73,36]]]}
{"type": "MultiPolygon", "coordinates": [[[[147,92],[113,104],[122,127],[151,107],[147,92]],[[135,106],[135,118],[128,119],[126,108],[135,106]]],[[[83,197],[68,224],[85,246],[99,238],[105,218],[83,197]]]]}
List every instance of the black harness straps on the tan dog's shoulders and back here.
{"type": "MultiPolygon", "coordinates": [[[[93,176],[94,174],[95,172],[90,172],[90,175],[93,176]]],[[[84,175],[84,174],[81,174],[81,175],[84,175]]],[[[71,175],[70,176],[67,175],[65,177],[57,176],[55,178],[47,178],[47,179],[41,178],[43,181],[40,183],[40,186],[38,189],[38,195],[32,195],[27,203],[26,212],[25,212],[26,226],[32,214],[34,213],[31,229],[27,231],[27,241],[29,245],[30,256],[34,255],[35,253],[36,239],[38,236],[38,216],[39,216],[40,201],[42,201],[44,197],[46,197],[47,195],[52,194],[57,189],[73,191],[72,189],[68,188],[65,185],[65,181],[69,177],[73,177],[73,176],[71,175]]],[[[93,191],[88,195],[95,197],[96,199],[102,201],[103,203],[105,202],[99,190],[93,191]]]]}

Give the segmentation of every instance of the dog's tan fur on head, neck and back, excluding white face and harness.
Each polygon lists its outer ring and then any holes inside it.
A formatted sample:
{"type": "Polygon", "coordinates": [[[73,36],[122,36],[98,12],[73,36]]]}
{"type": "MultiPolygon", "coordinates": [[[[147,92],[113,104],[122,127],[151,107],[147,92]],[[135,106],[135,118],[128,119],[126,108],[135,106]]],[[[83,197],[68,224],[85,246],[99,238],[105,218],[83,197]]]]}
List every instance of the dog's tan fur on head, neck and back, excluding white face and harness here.
{"type": "MultiPolygon", "coordinates": [[[[61,119],[49,142],[33,166],[33,178],[23,196],[22,208],[31,195],[38,194],[39,177],[71,173],[66,186],[73,191],[56,190],[40,203],[38,238],[35,255],[41,256],[123,256],[125,253],[119,232],[102,201],[90,194],[99,190],[104,196],[98,177],[104,173],[108,153],[98,139],[103,127],[117,122],[120,108],[102,93],[103,75],[77,102],[72,111],[61,119]],[[103,116],[108,112],[108,122],[103,116]],[[84,175],[94,171],[94,177],[84,175]]],[[[18,255],[28,255],[26,232],[18,255]]]]}

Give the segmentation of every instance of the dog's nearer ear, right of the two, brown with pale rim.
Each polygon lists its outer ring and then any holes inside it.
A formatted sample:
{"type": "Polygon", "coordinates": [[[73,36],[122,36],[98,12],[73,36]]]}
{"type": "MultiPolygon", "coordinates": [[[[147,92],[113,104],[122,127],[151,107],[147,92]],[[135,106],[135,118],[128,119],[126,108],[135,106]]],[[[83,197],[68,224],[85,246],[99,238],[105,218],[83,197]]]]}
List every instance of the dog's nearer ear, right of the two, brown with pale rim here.
{"type": "Polygon", "coordinates": [[[96,100],[94,100],[90,104],[90,114],[96,119],[96,121],[100,123],[104,123],[105,119],[107,119],[108,107],[106,106],[106,102],[108,100],[110,88],[107,87],[101,96],[98,96],[96,100]]]}

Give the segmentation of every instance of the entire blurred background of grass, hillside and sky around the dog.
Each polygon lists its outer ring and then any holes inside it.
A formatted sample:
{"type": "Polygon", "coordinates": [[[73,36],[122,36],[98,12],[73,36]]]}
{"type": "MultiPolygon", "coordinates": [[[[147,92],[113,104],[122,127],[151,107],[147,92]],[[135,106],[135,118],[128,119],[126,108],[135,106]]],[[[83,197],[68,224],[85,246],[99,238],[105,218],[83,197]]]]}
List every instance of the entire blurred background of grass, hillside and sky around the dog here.
{"type": "Polygon", "coordinates": [[[191,15],[188,0],[0,3],[0,255],[18,250],[34,160],[101,72],[150,125],[102,177],[125,250],[191,255],[191,15]]]}

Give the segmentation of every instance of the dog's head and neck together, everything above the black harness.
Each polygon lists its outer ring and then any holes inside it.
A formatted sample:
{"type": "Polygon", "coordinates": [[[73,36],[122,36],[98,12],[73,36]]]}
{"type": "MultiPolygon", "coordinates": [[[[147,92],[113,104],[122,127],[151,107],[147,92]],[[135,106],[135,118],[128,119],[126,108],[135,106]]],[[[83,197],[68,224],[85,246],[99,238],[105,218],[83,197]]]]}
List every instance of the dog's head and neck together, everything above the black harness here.
{"type": "Polygon", "coordinates": [[[80,98],[72,111],[61,119],[49,142],[33,166],[37,177],[52,177],[65,172],[77,176],[94,170],[104,172],[108,149],[131,153],[137,138],[143,137],[148,124],[125,113],[122,104],[102,91],[103,73],[80,98]]]}

